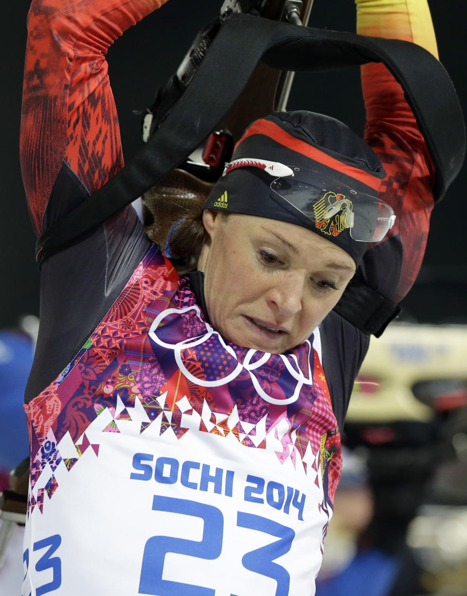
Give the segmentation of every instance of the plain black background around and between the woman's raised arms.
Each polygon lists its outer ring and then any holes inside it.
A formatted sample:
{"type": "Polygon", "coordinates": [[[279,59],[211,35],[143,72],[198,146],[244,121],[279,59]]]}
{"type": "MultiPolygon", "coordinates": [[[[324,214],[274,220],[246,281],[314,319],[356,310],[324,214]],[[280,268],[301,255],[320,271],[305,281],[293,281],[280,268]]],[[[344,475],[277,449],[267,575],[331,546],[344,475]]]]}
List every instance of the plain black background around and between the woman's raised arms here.
{"type": "MultiPolygon", "coordinates": [[[[123,150],[128,160],[141,146],[140,117],[157,87],[177,69],[197,30],[217,15],[222,0],[171,0],[110,48],[109,70],[119,109],[123,150]]],[[[467,105],[465,23],[459,2],[430,2],[440,59],[467,105]]],[[[39,274],[34,260],[35,237],[27,213],[18,158],[21,78],[29,1],[2,2],[0,328],[13,327],[24,313],[38,314],[39,274]]],[[[310,26],[355,30],[351,0],[316,0],[310,26]]],[[[215,91],[213,91],[215,92],[215,91]]],[[[299,75],[289,109],[308,109],[334,116],[363,134],[364,110],[358,69],[299,75]]],[[[432,230],[422,271],[404,300],[406,318],[420,322],[467,322],[467,169],[451,185],[432,216],[432,230]]]]}

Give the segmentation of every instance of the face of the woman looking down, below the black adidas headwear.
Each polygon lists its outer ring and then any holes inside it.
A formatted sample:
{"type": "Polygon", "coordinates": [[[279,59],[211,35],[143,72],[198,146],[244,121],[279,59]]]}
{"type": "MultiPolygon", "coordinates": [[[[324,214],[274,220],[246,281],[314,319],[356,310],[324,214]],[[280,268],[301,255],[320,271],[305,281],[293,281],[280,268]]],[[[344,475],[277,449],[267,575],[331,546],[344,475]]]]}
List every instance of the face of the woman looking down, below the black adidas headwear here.
{"type": "Polygon", "coordinates": [[[301,226],[210,210],[203,223],[209,318],[239,346],[283,353],[303,343],[354,275],[349,254],[301,226]]]}

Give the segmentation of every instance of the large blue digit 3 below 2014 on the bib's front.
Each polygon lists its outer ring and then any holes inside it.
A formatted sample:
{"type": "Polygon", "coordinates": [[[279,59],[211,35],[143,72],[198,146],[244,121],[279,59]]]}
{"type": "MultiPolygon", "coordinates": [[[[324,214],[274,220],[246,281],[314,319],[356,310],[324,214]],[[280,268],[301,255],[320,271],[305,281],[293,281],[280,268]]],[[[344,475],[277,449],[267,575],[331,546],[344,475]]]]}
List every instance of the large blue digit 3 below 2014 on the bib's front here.
{"type": "Polygon", "coordinates": [[[291,527],[282,526],[282,524],[268,520],[266,517],[255,516],[243,511],[237,513],[237,526],[258,530],[258,532],[265,532],[279,538],[276,542],[271,542],[271,544],[264,547],[247,552],[243,555],[242,564],[250,571],[275,579],[277,582],[275,596],[288,596],[290,575],[284,567],[273,563],[273,561],[289,552],[295,532],[291,527]]]}

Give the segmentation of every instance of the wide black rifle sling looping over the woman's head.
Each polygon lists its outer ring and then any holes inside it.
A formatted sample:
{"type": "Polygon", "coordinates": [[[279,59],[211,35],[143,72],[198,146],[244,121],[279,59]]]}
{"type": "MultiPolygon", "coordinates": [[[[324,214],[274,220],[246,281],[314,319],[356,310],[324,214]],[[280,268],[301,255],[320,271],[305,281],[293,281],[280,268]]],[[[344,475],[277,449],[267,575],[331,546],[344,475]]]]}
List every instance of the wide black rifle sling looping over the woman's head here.
{"type": "MultiPolygon", "coordinates": [[[[435,198],[443,197],[463,163],[465,126],[451,79],[434,56],[396,39],[233,14],[225,20],[190,85],[156,134],[116,176],[38,239],[39,266],[179,166],[218,126],[260,60],[278,69],[310,72],[383,62],[404,89],[436,168],[435,198]]],[[[381,309],[382,300],[376,294],[374,310],[384,311],[382,318],[372,314],[365,301],[355,318],[357,327],[367,333],[382,331],[382,319],[387,320],[386,311],[391,310],[387,304],[381,309]]],[[[395,305],[391,312],[392,318],[397,313],[395,305]]]]}

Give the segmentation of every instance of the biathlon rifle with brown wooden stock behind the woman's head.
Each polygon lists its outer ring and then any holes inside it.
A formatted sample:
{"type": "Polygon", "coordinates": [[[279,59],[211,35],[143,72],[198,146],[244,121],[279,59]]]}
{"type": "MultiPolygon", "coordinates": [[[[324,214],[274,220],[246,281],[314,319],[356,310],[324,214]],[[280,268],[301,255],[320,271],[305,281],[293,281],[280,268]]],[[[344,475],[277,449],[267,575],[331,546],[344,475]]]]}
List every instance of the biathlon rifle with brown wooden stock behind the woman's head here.
{"type": "MultiPolygon", "coordinates": [[[[160,88],[143,117],[143,140],[149,141],[193,81],[200,64],[225,20],[233,14],[250,14],[273,21],[306,26],[313,0],[225,0],[220,14],[197,34],[177,72],[160,88]]],[[[294,72],[274,69],[260,62],[243,91],[215,131],[205,139],[183,164],[169,172],[142,197],[143,225],[146,234],[161,248],[181,212],[199,212],[230,160],[234,144],[245,128],[273,111],[286,110],[294,72]],[[188,198],[189,196],[189,198],[188,198]]],[[[184,274],[193,263],[174,262],[184,274]]]]}

